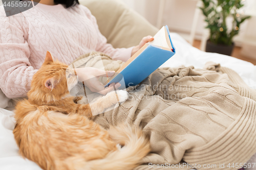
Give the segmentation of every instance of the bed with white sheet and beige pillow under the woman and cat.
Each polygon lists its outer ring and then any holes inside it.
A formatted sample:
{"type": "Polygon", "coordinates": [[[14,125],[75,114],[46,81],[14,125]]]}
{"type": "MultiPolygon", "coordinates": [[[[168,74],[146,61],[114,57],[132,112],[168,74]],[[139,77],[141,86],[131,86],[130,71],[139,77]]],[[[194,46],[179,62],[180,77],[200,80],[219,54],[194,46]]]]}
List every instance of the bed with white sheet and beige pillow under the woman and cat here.
{"type": "MultiPolygon", "coordinates": [[[[97,18],[101,33],[114,47],[136,45],[141,37],[154,35],[157,32],[155,27],[136,12],[121,4],[118,0],[84,0],[80,1],[80,3],[87,6],[92,11],[92,14],[97,18]],[[106,6],[109,8],[104,8],[106,6]],[[108,18],[108,20],[104,18],[108,18]]],[[[193,65],[196,68],[203,68],[206,62],[213,61],[220,63],[221,66],[233,69],[248,86],[256,89],[255,65],[230,56],[202,52],[191,46],[176,33],[170,33],[170,37],[176,47],[176,55],[166,61],[161,67],[193,65]]],[[[12,134],[12,130],[15,127],[15,120],[13,118],[13,112],[10,111],[12,109],[10,99],[6,98],[2,91],[0,91],[0,99],[0,106],[2,107],[0,108],[1,170],[41,169],[36,163],[18,155],[18,147],[12,134]]],[[[249,161],[256,162],[256,154],[249,161]]]]}

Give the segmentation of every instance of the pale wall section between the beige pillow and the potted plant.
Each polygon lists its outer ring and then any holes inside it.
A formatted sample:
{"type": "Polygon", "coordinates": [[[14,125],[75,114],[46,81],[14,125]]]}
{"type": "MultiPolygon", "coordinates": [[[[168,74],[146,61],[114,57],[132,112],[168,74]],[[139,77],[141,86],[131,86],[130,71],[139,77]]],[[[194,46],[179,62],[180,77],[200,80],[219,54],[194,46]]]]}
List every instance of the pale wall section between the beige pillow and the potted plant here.
{"type": "MultiPolygon", "coordinates": [[[[159,1],[156,0],[120,0],[140,13],[153,25],[157,24],[159,1]]],[[[190,32],[197,1],[167,0],[162,25],[168,25],[171,31],[190,32]]],[[[200,16],[198,34],[203,30],[203,16],[200,16]]]]}

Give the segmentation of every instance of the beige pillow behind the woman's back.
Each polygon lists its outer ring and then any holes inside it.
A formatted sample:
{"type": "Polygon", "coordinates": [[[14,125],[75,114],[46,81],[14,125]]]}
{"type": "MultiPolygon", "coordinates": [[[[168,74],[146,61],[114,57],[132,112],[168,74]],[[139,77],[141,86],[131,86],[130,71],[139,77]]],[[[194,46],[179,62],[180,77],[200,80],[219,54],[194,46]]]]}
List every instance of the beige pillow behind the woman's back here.
{"type": "Polygon", "coordinates": [[[95,16],[99,30],[115,48],[138,45],[158,29],[120,0],[80,0],[95,16]]]}

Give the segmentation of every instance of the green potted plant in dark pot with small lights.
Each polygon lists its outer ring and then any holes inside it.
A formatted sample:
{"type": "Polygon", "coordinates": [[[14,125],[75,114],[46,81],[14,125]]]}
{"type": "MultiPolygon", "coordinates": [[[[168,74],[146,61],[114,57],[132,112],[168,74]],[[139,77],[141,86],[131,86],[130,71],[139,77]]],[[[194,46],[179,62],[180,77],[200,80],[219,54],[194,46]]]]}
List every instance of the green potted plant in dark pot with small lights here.
{"type": "Polygon", "coordinates": [[[201,0],[201,10],[205,15],[210,38],[206,44],[206,52],[231,55],[234,43],[233,37],[239,33],[242,22],[250,16],[244,16],[241,8],[242,0],[201,0]],[[227,17],[232,18],[232,28],[227,27],[227,17]]]}

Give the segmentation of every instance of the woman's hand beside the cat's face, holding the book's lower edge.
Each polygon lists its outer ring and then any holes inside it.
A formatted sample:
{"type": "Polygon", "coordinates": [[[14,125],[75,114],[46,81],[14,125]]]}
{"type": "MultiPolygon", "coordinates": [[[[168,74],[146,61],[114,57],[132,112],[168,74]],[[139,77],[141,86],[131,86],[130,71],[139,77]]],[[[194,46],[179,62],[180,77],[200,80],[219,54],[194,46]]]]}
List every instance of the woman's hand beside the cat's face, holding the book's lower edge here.
{"type": "Polygon", "coordinates": [[[112,77],[115,71],[104,71],[94,67],[76,68],[75,70],[78,80],[83,82],[92,92],[105,95],[121,86],[120,83],[112,83],[109,87],[105,88],[104,85],[99,82],[99,77],[112,77]]]}

